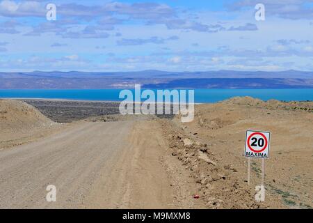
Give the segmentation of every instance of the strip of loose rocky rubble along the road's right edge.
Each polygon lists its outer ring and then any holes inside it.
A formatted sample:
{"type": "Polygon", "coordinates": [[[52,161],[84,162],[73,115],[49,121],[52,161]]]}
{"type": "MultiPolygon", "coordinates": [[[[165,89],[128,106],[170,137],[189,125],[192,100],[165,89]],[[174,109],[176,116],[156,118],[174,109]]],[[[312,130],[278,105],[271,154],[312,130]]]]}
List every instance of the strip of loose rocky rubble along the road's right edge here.
{"type": "Polygon", "coordinates": [[[186,135],[175,122],[160,120],[164,136],[168,139],[170,153],[182,162],[184,169],[198,185],[199,199],[207,203],[207,208],[257,208],[261,206],[254,199],[254,190],[239,184],[236,169],[228,165],[218,165],[218,160],[207,144],[186,135]]]}

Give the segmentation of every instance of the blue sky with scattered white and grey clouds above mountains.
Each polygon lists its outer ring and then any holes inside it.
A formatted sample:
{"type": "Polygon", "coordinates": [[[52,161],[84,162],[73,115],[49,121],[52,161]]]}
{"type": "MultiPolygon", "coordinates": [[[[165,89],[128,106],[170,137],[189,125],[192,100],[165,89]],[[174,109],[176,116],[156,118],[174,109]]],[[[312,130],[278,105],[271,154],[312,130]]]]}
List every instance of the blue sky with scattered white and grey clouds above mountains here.
{"type": "Polygon", "coordinates": [[[0,71],[313,70],[312,37],[313,0],[0,0],[0,71]]]}

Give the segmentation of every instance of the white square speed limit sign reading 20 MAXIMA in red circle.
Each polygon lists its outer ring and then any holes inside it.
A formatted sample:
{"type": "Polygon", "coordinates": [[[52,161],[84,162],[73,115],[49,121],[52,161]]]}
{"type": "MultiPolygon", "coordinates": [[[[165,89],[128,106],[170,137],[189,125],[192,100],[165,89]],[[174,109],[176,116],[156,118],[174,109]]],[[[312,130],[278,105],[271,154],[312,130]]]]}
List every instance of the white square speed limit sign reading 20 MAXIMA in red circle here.
{"type": "Polygon", "coordinates": [[[268,159],[270,137],[270,132],[247,130],[245,156],[268,159]]]}

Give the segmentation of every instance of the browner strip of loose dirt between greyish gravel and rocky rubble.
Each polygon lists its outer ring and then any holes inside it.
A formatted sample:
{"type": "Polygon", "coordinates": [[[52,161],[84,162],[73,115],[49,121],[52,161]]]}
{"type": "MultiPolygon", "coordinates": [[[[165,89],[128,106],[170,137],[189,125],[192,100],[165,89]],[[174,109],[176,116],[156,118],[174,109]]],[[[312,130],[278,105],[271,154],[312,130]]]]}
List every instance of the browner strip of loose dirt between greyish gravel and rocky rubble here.
{"type": "Polygon", "coordinates": [[[137,121],[129,144],[107,176],[99,178],[88,208],[204,208],[194,183],[170,155],[157,121],[137,121]]]}

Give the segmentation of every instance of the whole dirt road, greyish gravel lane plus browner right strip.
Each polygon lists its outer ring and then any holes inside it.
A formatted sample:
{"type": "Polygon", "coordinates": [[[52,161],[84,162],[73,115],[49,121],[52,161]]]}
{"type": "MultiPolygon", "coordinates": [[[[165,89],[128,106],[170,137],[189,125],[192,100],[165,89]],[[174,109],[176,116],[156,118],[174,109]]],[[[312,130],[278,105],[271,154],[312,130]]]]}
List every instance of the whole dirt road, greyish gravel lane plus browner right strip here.
{"type": "Polygon", "coordinates": [[[166,142],[155,125],[81,122],[0,151],[0,208],[203,207],[188,194],[193,185],[175,178],[177,160],[162,160],[166,142]],[[48,185],[56,202],[46,200],[48,185]]]}

